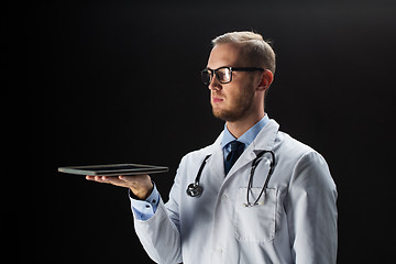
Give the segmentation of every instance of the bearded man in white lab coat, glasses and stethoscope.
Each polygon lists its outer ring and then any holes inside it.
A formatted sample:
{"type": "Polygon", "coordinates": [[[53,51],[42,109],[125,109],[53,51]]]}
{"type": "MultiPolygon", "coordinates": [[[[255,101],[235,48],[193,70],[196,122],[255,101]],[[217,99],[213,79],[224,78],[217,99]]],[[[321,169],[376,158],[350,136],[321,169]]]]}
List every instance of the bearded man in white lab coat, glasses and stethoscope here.
{"type": "Polygon", "coordinates": [[[273,50],[253,32],[212,44],[202,80],[224,130],[183,157],[169,200],[148,175],[87,179],[129,188],[135,231],[157,263],[336,263],[337,190],[328,165],[264,112],[273,50]]]}

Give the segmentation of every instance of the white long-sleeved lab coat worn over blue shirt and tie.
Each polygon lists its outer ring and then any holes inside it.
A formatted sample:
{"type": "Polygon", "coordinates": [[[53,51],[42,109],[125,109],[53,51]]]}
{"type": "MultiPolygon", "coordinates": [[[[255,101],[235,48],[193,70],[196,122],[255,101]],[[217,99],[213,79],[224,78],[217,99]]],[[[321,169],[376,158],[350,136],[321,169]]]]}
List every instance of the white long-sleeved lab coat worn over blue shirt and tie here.
{"type": "MultiPolygon", "coordinates": [[[[224,178],[222,133],[212,145],[183,157],[169,200],[155,215],[134,220],[147,254],[157,263],[327,264],[337,258],[337,190],[324,158],[278,132],[271,120],[224,178]],[[276,165],[258,206],[245,207],[252,161],[273,151],[276,165]],[[206,155],[202,195],[189,197],[206,155]]],[[[268,157],[258,164],[250,201],[260,194],[268,157]]],[[[133,211],[133,210],[132,210],[133,211]]]]}

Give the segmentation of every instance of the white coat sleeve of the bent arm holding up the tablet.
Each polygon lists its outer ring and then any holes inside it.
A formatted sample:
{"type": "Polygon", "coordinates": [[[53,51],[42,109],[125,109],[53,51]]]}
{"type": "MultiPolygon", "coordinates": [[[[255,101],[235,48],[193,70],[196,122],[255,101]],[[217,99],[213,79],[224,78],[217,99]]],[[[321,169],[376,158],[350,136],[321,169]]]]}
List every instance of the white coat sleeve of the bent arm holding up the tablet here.
{"type": "Polygon", "coordinates": [[[139,220],[134,216],[134,228],[144,250],[153,261],[161,264],[183,262],[178,207],[182,164],[183,161],[166,205],[161,199],[157,210],[148,220],[139,220]]]}

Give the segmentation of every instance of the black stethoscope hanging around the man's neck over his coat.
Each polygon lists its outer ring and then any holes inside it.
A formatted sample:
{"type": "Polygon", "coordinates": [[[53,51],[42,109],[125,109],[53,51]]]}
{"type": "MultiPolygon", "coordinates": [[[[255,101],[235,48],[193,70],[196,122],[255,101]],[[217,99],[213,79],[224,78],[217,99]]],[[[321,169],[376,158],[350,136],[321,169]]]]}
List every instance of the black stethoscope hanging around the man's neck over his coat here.
{"type": "MultiPolygon", "coordinates": [[[[204,193],[204,187],[199,185],[199,179],[201,177],[201,174],[202,174],[202,170],[204,170],[204,167],[206,165],[206,162],[207,160],[211,156],[211,154],[207,155],[205,158],[204,158],[204,162],[202,164],[200,165],[199,167],[199,170],[198,170],[198,174],[197,174],[197,177],[195,179],[195,183],[188,185],[187,189],[186,189],[186,193],[188,196],[190,197],[199,197],[202,195],[204,193]]],[[[268,183],[270,183],[270,179],[271,179],[271,175],[273,174],[274,172],[274,167],[275,167],[275,154],[274,152],[272,151],[262,151],[257,154],[257,156],[253,160],[253,163],[252,163],[252,168],[251,168],[251,174],[250,174],[250,177],[249,177],[249,184],[248,184],[248,191],[246,191],[246,204],[245,206],[246,207],[252,207],[252,206],[256,206],[258,205],[258,200],[261,198],[261,196],[263,195],[264,190],[267,188],[268,186],[268,183]],[[249,193],[251,191],[252,189],[252,185],[253,185],[253,176],[254,176],[254,172],[258,165],[258,163],[263,160],[263,155],[265,153],[271,153],[271,163],[270,163],[270,170],[268,170],[268,174],[267,174],[267,177],[265,179],[265,183],[263,185],[263,188],[257,197],[257,199],[251,204],[250,200],[249,200],[249,193]]]]}

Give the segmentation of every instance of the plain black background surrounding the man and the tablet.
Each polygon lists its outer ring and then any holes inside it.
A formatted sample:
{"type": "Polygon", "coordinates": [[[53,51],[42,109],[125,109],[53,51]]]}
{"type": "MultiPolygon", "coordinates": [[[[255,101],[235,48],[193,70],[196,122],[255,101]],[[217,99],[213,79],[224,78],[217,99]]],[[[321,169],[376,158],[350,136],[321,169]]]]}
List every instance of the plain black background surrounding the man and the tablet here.
{"type": "Polygon", "coordinates": [[[388,262],[395,11],[392,1],[2,3],[6,251],[16,262],[151,263],[125,189],[56,169],[166,165],[153,179],[167,200],[183,155],[223,128],[199,77],[210,40],[254,30],[277,53],[266,112],[326,157],[338,186],[338,262],[388,262]]]}

